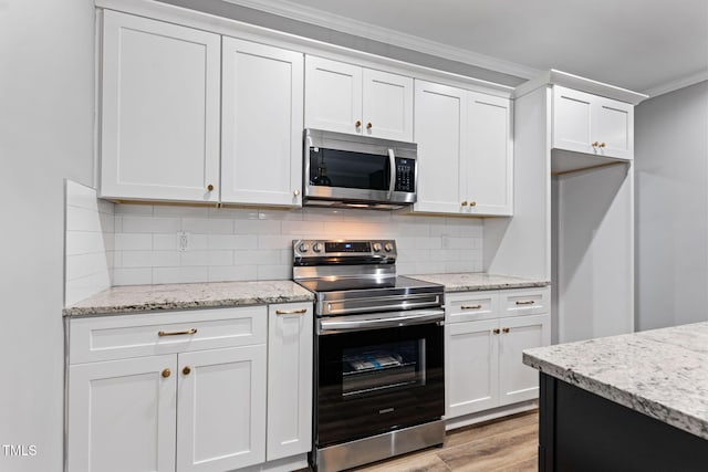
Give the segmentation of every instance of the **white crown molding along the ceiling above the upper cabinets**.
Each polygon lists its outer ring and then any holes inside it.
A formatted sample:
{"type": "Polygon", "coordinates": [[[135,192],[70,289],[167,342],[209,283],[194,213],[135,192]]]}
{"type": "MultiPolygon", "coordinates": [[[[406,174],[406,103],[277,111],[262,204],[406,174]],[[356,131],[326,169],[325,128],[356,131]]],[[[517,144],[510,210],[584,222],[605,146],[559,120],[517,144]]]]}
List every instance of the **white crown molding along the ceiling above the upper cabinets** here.
{"type": "Polygon", "coordinates": [[[316,27],[335,30],[346,34],[365,38],[373,41],[391,44],[430,54],[437,57],[450,61],[461,62],[476,67],[488,69],[490,71],[509,74],[521,78],[533,78],[542,71],[503,61],[485,54],[478,54],[461,48],[450,46],[448,44],[429,41],[413,34],[402,33],[399,31],[389,30],[387,28],[376,27],[362,21],[345,18],[339,14],[324,12],[311,7],[304,7],[288,0],[223,0],[228,3],[238,4],[240,7],[253,10],[264,11],[267,13],[284,17],[291,20],[314,24],[316,27]]]}

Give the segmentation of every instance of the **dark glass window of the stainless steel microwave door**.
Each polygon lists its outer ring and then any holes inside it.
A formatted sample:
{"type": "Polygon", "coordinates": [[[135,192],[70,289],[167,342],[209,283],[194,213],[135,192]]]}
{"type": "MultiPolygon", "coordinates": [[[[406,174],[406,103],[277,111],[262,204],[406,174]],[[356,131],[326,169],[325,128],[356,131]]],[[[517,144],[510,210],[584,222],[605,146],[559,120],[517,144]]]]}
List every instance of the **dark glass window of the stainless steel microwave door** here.
{"type": "Polygon", "coordinates": [[[352,189],[388,190],[388,156],[310,148],[310,183],[352,189]]]}

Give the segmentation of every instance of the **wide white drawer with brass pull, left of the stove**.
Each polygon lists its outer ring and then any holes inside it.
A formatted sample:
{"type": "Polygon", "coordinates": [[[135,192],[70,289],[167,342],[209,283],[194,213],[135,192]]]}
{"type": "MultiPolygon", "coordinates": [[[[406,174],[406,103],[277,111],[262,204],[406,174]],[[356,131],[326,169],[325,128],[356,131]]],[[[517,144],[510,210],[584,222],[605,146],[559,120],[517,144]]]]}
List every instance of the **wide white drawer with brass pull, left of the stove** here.
{"type": "Polygon", "coordinates": [[[70,321],[70,364],[266,343],[266,306],[70,321]]]}

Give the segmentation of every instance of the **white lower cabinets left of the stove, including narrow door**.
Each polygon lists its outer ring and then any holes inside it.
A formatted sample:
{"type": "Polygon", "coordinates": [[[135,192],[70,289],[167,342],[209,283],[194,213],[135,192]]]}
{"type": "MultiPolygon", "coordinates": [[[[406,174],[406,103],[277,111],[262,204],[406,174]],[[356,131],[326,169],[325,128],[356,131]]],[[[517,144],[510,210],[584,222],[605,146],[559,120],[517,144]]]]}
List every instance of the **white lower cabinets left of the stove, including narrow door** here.
{"type": "Polygon", "coordinates": [[[71,319],[67,470],[259,470],[308,452],[312,304],[270,316],[270,327],[267,306],[71,319]]]}

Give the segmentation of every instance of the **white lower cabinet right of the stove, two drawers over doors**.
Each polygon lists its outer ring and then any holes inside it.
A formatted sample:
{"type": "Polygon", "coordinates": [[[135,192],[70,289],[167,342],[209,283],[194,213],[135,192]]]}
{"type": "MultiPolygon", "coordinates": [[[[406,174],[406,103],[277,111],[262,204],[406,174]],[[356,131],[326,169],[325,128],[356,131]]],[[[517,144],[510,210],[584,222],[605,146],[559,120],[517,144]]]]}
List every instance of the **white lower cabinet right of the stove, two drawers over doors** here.
{"type": "Polygon", "coordinates": [[[522,352],[550,344],[549,300],[549,289],[447,295],[446,419],[538,397],[522,352]]]}

